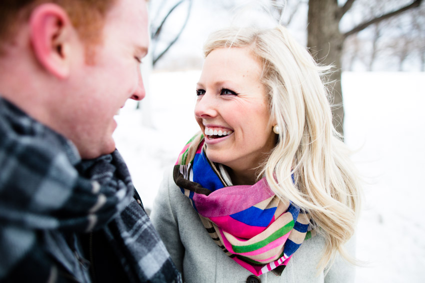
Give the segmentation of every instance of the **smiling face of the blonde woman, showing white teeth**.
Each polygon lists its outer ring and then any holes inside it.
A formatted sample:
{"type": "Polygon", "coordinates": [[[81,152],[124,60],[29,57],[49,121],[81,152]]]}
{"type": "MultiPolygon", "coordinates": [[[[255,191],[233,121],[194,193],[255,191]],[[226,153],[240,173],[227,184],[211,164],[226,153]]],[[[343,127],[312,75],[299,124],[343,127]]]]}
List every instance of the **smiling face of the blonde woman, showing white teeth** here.
{"type": "Polygon", "coordinates": [[[247,47],[218,48],[197,83],[194,113],[206,156],[234,173],[257,168],[275,144],[261,70],[247,47]]]}

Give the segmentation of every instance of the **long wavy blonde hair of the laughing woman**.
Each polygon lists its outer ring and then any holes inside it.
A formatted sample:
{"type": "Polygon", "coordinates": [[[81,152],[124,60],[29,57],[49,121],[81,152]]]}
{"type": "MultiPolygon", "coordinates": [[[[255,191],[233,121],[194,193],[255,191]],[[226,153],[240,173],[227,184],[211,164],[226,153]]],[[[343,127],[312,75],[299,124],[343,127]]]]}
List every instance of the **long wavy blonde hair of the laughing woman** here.
{"type": "Polygon", "coordinates": [[[332,125],[322,81],[329,67],[319,66],[282,26],[218,30],[205,42],[204,55],[223,47],[248,47],[263,65],[270,121],[281,133],[259,176],[277,196],[311,216],[313,228],[325,238],[320,270],[333,263],[337,251],[355,263],[343,244],[354,233],[360,189],[350,152],[332,125]]]}

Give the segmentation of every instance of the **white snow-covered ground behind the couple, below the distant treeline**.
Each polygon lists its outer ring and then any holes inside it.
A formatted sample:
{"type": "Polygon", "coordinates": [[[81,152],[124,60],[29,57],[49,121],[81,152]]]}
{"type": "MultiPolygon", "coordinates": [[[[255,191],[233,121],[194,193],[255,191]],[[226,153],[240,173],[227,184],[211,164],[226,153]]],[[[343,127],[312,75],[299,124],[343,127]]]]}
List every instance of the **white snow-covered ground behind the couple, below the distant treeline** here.
{"type": "MultiPolygon", "coordinates": [[[[199,71],[157,72],[148,81],[152,125],[128,101],[114,137],[145,207],[197,130],[199,71]]],[[[344,73],[345,140],[365,183],[357,230],[356,283],[425,282],[425,73],[344,73]]]]}

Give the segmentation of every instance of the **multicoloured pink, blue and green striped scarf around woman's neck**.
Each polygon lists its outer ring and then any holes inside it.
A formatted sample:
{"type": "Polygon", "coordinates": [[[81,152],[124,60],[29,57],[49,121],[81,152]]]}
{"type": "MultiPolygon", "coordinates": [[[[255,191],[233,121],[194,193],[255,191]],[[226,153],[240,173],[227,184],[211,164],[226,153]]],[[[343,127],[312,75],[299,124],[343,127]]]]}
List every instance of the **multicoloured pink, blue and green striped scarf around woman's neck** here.
{"type": "Polygon", "coordinates": [[[240,266],[259,276],[280,276],[304,239],[312,236],[309,216],[281,201],[265,179],[254,185],[226,185],[228,176],[206,157],[203,135],[181,151],[173,178],[189,198],[209,236],[240,266]]]}

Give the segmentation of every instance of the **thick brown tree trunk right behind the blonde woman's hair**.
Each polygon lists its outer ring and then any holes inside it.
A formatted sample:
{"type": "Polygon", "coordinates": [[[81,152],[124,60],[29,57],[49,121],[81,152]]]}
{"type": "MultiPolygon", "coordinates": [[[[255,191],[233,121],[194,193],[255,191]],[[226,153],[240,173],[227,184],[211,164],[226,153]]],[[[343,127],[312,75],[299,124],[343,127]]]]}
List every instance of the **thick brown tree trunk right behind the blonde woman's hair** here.
{"type": "Polygon", "coordinates": [[[329,89],[333,100],[333,125],[343,135],[341,55],[344,36],[339,31],[339,20],[336,0],[309,0],[307,46],[318,63],[334,66],[329,77],[329,89]]]}

